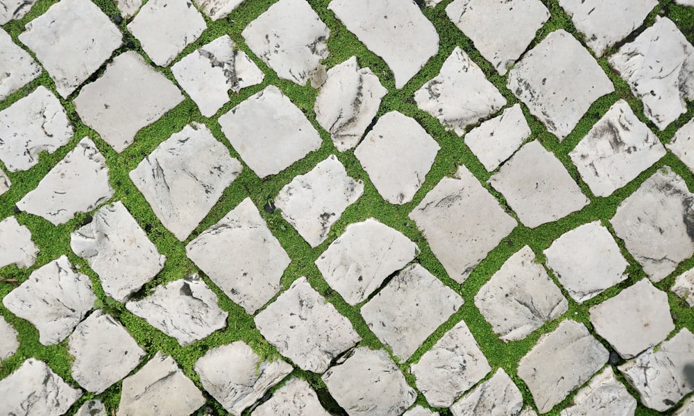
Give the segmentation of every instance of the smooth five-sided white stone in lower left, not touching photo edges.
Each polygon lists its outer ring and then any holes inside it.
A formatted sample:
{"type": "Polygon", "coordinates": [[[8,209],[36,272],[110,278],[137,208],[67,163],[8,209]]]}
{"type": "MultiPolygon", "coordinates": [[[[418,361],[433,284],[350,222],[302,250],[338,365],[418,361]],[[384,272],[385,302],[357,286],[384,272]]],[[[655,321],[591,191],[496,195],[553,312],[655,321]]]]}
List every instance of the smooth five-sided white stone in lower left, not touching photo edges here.
{"type": "Polygon", "coordinates": [[[96,395],[135,370],[146,355],[125,327],[101,310],[77,325],[67,340],[75,358],[72,377],[96,395]]]}

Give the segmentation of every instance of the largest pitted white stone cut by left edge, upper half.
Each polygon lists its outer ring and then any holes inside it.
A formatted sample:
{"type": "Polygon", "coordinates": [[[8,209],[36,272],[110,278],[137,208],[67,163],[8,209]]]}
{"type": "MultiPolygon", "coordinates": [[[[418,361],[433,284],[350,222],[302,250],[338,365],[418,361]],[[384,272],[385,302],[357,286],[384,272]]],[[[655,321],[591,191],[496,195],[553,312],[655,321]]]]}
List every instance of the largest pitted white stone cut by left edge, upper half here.
{"type": "Polygon", "coordinates": [[[0,160],[10,172],[26,171],[38,164],[40,152],[55,152],[72,134],[60,101],[40,85],[0,111],[0,160]]]}

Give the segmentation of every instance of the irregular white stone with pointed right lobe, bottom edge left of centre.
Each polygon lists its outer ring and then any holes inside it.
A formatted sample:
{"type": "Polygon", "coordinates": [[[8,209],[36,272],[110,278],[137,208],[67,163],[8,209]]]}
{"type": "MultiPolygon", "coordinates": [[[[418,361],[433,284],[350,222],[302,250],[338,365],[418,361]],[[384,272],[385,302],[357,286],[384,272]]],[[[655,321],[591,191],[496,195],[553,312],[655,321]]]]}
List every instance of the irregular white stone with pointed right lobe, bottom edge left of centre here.
{"type": "Polygon", "coordinates": [[[232,415],[240,416],[293,370],[282,360],[260,361],[243,341],[210,349],[195,363],[203,387],[232,415]]]}

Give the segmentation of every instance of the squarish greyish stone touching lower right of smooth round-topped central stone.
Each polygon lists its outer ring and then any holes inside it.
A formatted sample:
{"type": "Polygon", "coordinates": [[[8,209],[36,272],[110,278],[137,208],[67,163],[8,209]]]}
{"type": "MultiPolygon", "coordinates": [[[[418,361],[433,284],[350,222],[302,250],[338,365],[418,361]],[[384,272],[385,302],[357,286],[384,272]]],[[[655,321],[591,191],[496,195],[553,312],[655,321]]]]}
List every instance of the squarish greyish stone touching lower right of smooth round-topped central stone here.
{"type": "Polygon", "coordinates": [[[361,312],[366,324],[405,361],[463,304],[463,298],[415,263],[398,273],[361,312]]]}

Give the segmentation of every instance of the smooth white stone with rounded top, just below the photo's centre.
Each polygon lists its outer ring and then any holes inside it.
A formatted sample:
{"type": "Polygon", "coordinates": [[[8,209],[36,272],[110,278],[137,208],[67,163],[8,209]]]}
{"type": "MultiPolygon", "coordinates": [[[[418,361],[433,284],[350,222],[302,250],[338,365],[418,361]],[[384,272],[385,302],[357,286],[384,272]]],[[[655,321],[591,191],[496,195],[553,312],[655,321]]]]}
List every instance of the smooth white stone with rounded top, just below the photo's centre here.
{"type": "Polygon", "coordinates": [[[348,225],[316,260],[316,266],[330,287],[354,306],[418,252],[417,245],[402,233],[369,218],[348,225]]]}

